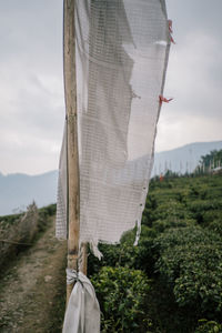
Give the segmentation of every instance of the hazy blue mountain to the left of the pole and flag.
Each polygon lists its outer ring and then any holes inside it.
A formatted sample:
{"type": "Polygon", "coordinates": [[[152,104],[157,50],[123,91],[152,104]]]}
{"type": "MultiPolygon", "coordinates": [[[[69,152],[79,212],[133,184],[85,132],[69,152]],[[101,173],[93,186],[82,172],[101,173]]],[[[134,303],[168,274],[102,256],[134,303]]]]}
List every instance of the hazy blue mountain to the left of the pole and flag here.
{"type": "Polygon", "coordinates": [[[0,215],[26,210],[33,200],[38,206],[57,201],[58,172],[39,175],[0,173],[0,215]]]}

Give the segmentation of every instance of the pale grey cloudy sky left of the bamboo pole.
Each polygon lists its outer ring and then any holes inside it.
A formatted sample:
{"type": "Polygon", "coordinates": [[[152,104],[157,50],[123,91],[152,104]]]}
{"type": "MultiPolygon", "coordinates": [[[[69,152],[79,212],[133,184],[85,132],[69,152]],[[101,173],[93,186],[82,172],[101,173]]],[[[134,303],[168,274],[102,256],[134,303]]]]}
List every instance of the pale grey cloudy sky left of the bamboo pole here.
{"type": "Polygon", "coordinates": [[[0,3],[0,171],[56,169],[64,119],[62,0],[0,3]]]}

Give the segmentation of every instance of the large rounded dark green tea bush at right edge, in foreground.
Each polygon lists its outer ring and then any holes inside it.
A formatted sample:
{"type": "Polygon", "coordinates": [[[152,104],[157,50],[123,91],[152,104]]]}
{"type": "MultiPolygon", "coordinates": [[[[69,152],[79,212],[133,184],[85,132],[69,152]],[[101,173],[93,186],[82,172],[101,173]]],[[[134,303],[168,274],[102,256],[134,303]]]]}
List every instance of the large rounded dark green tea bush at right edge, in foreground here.
{"type": "Polygon", "coordinates": [[[220,317],[222,310],[222,244],[218,235],[200,228],[172,229],[157,241],[157,272],[180,306],[220,317]]]}

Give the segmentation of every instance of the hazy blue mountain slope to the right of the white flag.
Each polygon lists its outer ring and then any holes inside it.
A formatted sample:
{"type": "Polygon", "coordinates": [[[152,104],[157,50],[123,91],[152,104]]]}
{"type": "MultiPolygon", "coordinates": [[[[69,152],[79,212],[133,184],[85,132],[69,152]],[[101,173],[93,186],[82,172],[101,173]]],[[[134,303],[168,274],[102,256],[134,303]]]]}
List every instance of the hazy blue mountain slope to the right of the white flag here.
{"type": "Polygon", "coordinates": [[[184,174],[192,172],[202,155],[221,150],[222,141],[190,143],[173,150],[155,153],[152,175],[171,170],[184,174]]]}

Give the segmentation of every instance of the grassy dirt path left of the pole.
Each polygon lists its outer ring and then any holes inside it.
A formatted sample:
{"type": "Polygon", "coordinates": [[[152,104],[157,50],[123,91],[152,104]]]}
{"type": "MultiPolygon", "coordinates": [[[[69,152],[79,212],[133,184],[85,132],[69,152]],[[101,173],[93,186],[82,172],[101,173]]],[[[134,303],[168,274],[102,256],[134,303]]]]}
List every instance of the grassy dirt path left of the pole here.
{"type": "Polygon", "coordinates": [[[61,332],[65,299],[65,242],[54,225],[20,253],[0,281],[0,332],[61,332]]]}

